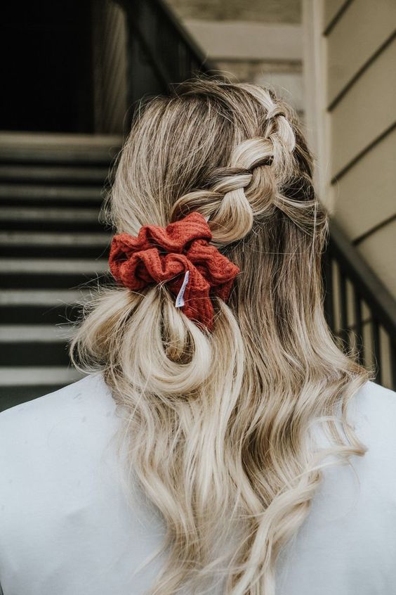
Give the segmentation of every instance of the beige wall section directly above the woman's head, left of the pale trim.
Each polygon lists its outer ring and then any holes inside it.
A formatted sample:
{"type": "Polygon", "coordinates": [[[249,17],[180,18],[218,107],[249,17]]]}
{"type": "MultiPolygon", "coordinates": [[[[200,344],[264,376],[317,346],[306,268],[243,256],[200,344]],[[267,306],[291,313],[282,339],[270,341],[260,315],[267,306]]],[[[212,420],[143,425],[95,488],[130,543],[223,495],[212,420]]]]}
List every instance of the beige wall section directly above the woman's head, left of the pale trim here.
{"type": "Polygon", "coordinates": [[[218,68],[271,86],[303,113],[301,0],[168,0],[218,68]]]}

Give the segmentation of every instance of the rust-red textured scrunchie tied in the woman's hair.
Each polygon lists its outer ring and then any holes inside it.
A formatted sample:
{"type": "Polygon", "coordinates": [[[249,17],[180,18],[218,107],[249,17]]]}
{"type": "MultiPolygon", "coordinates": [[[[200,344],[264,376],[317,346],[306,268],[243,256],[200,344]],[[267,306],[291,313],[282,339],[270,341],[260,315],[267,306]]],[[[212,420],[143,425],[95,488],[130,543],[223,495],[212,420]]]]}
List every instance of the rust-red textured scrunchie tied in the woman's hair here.
{"type": "Polygon", "coordinates": [[[167,283],[178,295],[183,273],[189,272],[183,313],[211,331],[213,304],[210,294],[226,301],[239,267],[210,245],[211,230],[197,211],[167,225],[144,225],[138,236],[114,236],[110,271],[114,279],[131,290],[151,283],[167,283]]]}

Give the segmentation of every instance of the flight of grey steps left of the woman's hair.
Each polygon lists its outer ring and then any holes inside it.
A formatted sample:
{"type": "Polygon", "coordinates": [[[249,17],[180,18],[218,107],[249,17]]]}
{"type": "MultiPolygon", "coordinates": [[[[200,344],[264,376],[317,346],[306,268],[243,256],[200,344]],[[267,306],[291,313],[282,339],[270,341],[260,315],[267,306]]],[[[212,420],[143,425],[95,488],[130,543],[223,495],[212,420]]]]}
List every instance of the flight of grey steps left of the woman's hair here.
{"type": "Polygon", "coordinates": [[[0,409],[79,378],[78,302],[107,282],[98,216],[119,136],[0,134],[0,409]]]}

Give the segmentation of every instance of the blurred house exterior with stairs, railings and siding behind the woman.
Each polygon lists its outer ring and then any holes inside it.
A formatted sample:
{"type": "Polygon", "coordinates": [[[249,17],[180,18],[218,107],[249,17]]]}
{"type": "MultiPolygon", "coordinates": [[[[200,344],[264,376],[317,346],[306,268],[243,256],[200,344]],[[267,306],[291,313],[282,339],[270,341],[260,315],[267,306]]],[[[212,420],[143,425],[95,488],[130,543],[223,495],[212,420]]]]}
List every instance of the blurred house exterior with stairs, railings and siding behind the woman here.
{"type": "Polygon", "coordinates": [[[108,281],[98,220],[143,96],[195,72],[296,108],[331,212],[336,341],[396,388],[395,0],[39,0],[1,19],[0,409],[79,378],[70,322],[108,281]]]}

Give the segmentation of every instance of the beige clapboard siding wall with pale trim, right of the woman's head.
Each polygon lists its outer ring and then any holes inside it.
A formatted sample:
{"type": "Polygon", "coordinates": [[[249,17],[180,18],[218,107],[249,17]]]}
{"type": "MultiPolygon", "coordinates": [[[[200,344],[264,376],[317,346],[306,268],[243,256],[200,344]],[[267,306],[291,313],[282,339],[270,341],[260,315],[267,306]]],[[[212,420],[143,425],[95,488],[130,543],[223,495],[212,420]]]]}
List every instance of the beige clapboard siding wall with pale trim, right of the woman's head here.
{"type": "Polygon", "coordinates": [[[322,193],[396,297],[396,2],[306,4],[319,30],[310,40],[310,51],[320,56],[316,80],[311,76],[308,84],[319,105],[312,126],[323,131],[316,139],[322,193]]]}

